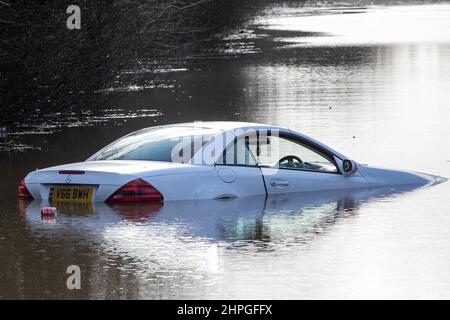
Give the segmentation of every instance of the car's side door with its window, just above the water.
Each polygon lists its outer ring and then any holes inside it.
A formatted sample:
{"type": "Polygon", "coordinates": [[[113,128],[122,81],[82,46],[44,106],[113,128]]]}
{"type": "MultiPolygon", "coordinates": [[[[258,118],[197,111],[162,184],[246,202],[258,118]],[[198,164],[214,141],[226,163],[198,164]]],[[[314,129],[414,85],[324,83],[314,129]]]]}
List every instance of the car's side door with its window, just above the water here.
{"type": "Polygon", "coordinates": [[[341,174],[333,155],[296,136],[271,136],[258,148],[250,146],[269,195],[369,186],[358,172],[341,174]]]}

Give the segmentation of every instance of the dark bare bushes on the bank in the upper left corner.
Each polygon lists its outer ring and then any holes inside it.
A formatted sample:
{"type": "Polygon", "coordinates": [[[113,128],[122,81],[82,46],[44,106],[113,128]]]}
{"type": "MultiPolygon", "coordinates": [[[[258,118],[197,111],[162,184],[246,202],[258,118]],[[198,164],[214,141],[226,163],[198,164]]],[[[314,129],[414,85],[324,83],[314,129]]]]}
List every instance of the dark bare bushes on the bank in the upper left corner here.
{"type": "Polygon", "coordinates": [[[1,0],[0,126],[98,106],[93,93],[124,69],[214,50],[221,32],[267,2],[1,0]],[[80,30],[66,27],[71,4],[81,9],[80,30]]]}

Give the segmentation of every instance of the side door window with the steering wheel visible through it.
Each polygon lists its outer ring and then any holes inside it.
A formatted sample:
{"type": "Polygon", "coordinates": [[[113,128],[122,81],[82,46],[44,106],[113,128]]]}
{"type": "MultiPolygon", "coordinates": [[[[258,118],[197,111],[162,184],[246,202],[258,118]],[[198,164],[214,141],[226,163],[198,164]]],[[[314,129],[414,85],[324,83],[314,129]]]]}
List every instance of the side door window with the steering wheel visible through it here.
{"type": "Polygon", "coordinates": [[[249,146],[260,166],[319,172],[338,172],[336,166],[318,151],[289,138],[270,136],[267,143],[249,146]],[[259,152],[258,152],[259,151],[259,152]]]}

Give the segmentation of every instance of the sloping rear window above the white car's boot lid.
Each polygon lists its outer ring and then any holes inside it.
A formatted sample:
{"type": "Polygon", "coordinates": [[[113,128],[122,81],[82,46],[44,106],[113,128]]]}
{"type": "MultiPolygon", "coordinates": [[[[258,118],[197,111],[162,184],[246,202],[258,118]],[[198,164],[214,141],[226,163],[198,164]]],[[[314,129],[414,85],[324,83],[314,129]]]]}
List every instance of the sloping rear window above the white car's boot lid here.
{"type": "Polygon", "coordinates": [[[185,163],[220,132],[217,129],[183,126],[143,129],[114,141],[87,161],[152,160],[185,163]]]}

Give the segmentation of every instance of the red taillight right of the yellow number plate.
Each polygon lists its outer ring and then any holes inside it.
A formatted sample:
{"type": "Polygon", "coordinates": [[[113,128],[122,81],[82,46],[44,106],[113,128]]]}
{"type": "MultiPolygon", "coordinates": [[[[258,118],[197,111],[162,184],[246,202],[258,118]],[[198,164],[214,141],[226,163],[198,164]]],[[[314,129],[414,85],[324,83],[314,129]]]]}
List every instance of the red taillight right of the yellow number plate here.
{"type": "Polygon", "coordinates": [[[145,202],[145,201],[163,201],[162,194],[151,184],[136,179],[123,185],[119,190],[113,193],[106,202],[145,202]]]}

